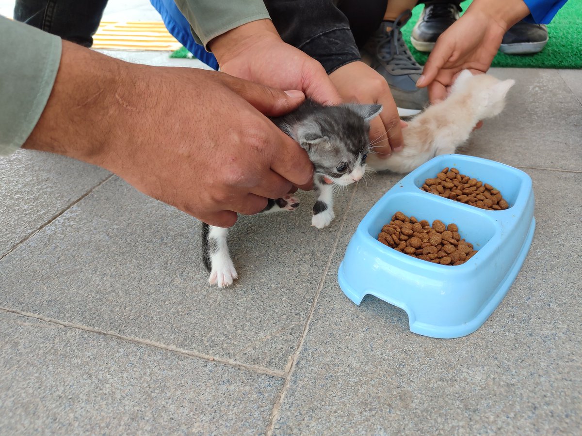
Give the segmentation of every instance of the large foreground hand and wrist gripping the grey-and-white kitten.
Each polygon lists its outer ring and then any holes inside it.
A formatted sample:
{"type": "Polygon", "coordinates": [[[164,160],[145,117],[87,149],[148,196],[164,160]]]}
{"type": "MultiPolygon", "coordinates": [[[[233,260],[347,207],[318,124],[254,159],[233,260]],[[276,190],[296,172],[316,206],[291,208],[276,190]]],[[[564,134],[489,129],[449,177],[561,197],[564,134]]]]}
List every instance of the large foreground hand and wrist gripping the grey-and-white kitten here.
{"type": "Polygon", "coordinates": [[[237,212],[260,212],[292,184],[311,184],[307,153],[265,117],[303,100],[299,91],[130,64],[63,42],[51,97],[24,147],[102,166],[147,195],[228,227],[237,212]]]}

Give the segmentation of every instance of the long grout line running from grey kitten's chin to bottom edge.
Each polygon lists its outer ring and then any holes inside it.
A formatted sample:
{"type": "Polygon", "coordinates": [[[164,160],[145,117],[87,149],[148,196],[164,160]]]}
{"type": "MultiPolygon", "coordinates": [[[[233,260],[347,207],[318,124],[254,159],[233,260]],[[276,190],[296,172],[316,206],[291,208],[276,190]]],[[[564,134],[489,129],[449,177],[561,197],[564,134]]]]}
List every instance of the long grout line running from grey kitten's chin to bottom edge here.
{"type": "Polygon", "coordinates": [[[315,291],[315,295],[313,297],[313,301],[311,302],[311,307],[309,309],[309,313],[307,314],[305,325],[303,327],[303,332],[301,333],[301,337],[299,338],[299,342],[297,342],[297,348],[295,349],[295,352],[293,353],[291,362],[289,364],[289,369],[285,373],[285,380],[283,381],[283,386],[281,387],[281,391],[279,391],[279,395],[275,399],[273,409],[271,410],[271,416],[269,417],[269,424],[267,426],[267,431],[265,431],[266,436],[272,436],[272,434],[273,434],[273,431],[275,428],[275,423],[276,423],[276,420],[279,416],[279,410],[281,410],[281,405],[283,403],[283,400],[285,399],[285,394],[289,388],[289,383],[291,381],[291,376],[293,375],[293,370],[295,369],[295,365],[297,364],[297,359],[299,359],[299,353],[301,352],[301,348],[303,348],[303,342],[305,341],[305,338],[307,337],[307,333],[309,331],[309,326],[311,324],[311,318],[313,317],[313,314],[315,312],[315,307],[317,306],[317,301],[320,297],[321,290],[324,286],[325,278],[328,275],[329,266],[331,266],[331,262],[333,259],[333,254],[335,253],[336,248],[338,247],[339,238],[342,235],[343,224],[346,221],[347,211],[349,210],[350,205],[352,204],[352,199],[354,198],[354,195],[356,195],[356,191],[357,191],[357,185],[356,185],[356,189],[354,189],[354,191],[352,192],[352,196],[350,196],[349,202],[347,203],[346,211],[342,217],[342,223],[340,224],[340,226],[338,228],[338,236],[335,238],[335,241],[333,242],[333,247],[331,249],[331,252],[329,253],[324,272],[321,275],[320,283],[317,286],[317,291],[315,291]]]}

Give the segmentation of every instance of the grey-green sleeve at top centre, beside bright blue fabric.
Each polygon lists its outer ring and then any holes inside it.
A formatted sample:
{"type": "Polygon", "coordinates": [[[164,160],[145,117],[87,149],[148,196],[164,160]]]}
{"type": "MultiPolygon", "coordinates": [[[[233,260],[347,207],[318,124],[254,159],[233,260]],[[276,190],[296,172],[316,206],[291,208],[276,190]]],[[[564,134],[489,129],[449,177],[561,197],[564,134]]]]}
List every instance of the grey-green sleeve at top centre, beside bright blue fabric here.
{"type": "Polygon", "coordinates": [[[190,23],[194,40],[204,45],[207,50],[207,44],[212,38],[242,24],[269,18],[262,0],[175,0],[175,2],[190,23]]]}

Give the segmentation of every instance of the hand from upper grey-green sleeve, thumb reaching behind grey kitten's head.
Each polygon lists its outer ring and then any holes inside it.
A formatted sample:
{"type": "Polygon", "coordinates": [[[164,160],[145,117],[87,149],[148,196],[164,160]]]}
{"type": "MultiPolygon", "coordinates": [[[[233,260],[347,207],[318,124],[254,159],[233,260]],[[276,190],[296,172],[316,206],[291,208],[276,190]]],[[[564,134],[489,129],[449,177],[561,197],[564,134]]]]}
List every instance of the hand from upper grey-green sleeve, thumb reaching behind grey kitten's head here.
{"type": "Polygon", "coordinates": [[[341,102],[324,67],[281,40],[271,20],[236,27],[208,43],[221,71],[281,90],[300,90],[324,105],[341,102]]]}

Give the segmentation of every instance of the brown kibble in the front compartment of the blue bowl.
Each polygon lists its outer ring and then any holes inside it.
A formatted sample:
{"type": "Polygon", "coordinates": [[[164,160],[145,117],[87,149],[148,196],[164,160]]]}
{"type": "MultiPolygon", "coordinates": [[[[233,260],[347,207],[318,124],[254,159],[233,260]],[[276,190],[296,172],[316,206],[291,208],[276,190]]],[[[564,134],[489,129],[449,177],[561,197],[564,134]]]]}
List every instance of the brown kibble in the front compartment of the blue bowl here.
{"type": "Polygon", "coordinates": [[[441,265],[461,265],[477,253],[472,244],[461,239],[456,224],[445,226],[434,220],[431,227],[427,220],[418,221],[402,212],[396,212],[390,224],[382,227],[378,241],[413,258],[441,265]]]}

